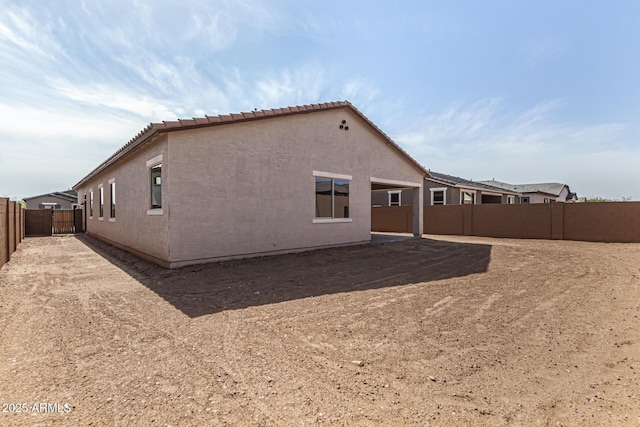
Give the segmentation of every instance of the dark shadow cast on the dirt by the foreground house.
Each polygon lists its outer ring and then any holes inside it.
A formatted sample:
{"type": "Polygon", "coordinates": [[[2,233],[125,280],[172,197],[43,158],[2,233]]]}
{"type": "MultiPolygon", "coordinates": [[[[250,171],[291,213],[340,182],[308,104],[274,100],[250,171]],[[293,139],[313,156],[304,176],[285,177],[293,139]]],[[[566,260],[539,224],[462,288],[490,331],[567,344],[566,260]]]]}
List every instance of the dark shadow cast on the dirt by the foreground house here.
{"type": "Polygon", "coordinates": [[[490,245],[409,239],[166,270],[76,236],[189,317],[484,273],[491,258],[490,245]]]}

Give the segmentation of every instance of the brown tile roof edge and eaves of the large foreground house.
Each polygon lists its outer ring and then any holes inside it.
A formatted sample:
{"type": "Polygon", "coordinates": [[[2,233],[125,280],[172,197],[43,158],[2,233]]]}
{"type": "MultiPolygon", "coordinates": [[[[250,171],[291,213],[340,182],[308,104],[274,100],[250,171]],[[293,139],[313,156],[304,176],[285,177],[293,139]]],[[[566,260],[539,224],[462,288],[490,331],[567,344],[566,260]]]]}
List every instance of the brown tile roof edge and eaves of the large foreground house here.
{"type": "Polygon", "coordinates": [[[100,173],[102,170],[117,162],[120,158],[126,156],[129,152],[133,151],[140,145],[152,140],[155,136],[173,132],[178,130],[196,129],[210,126],[221,126],[232,123],[249,122],[255,120],[270,119],[275,117],[285,117],[296,114],[308,114],[317,111],[327,111],[344,108],[352,111],[362,121],[369,126],[374,132],[378,133],[387,144],[393,147],[400,155],[407,159],[417,169],[422,171],[425,176],[430,176],[429,172],[413,159],[406,151],[404,151],[398,144],[396,144],[386,133],[384,133],[378,126],[376,126],[371,120],[369,120],[364,114],[362,114],[356,107],[354,107],[348,101],[327,102],[322,104],[310,104],[300,105],[294,107],[285,108],[272,108],[270,110],[254,110],[250,112],[233,113],[218,116],[205,116],[195,117],[192,119],[178,119],[177,121],[163,121],[162,123],[150,123],[146,128],[140,131],[133,139],[123,145],[118,151],[111,155],[107,160],[102,162],[97,168],[91,171],[87,176],[82,178],[74,188],[77,188],[87,180],[100,173]]]}

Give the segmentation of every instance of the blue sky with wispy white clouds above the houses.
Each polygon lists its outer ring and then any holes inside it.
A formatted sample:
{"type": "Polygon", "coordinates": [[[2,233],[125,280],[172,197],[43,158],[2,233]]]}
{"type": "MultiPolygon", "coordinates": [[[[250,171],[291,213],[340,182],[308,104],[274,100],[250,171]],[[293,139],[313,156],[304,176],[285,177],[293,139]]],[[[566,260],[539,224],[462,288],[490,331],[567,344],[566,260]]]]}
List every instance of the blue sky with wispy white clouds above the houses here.
{"type": "Polygon", "coordinates": [[[640,201],[640,2],[0,0],[0,196],[150,122],[347,100],[427,169],[640,201]]]}

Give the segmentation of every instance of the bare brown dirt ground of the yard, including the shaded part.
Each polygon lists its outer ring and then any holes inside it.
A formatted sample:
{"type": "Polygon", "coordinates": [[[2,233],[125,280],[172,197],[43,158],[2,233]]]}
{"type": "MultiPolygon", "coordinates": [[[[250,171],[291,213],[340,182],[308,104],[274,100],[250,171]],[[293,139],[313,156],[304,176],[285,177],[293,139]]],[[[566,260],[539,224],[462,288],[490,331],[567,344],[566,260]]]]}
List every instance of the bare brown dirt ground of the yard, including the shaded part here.
{"type": "Polygon", "coordinates": [[[28,238],[0,425],[640,426],[640,245],[429,237],[173,271],[28,238]]]}

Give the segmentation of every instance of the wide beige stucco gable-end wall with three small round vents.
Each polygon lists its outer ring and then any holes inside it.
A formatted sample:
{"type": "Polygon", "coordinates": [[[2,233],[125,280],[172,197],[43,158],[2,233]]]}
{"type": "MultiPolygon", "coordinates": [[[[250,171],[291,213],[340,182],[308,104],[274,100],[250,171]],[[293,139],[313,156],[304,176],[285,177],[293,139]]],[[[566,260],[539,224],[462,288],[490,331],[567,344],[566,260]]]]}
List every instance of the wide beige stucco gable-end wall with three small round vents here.
{"type": "Polygon", "coordinates": [[[368,241],[371,178],[423,179],[346,109],[175,131],[168,153],[174,266],[368,241]],[[314,171],[352,176],[351,222],[313,222],[314,171]]]}

